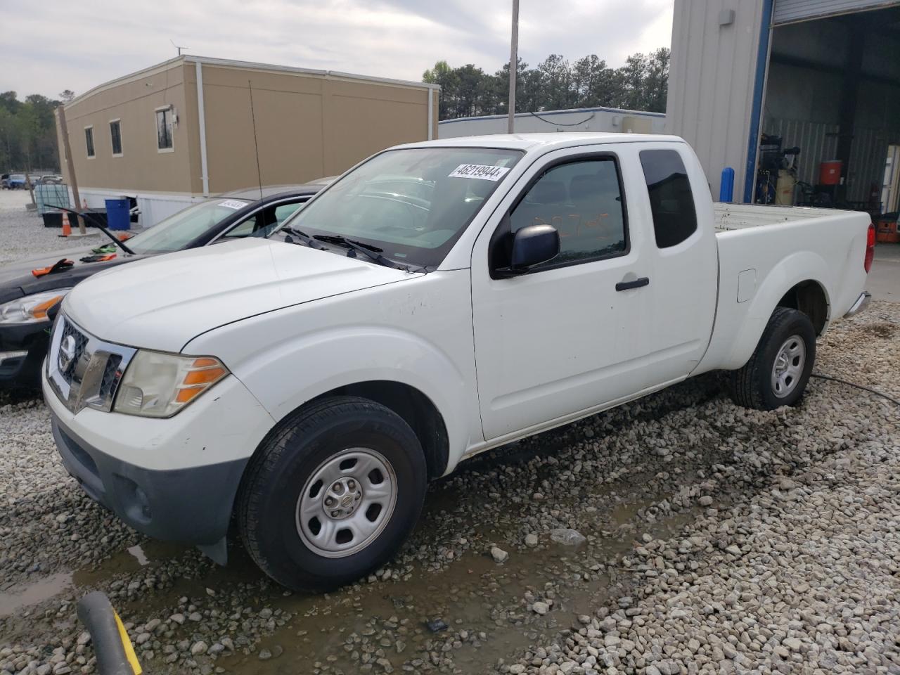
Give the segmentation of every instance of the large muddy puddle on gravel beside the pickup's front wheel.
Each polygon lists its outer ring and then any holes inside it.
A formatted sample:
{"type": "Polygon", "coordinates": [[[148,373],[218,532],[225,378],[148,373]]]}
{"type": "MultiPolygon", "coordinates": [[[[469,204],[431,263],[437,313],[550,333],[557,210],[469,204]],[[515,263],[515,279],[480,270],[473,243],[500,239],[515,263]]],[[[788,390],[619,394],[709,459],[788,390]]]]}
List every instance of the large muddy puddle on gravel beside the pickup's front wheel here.
{"type": "MultiPolygon", "coordinates": [[[[633,522],[639,510],[657,500],[617,504],[604,524],[610,520],[613,526],[633,522]]],[[[672,536],[695,516],[692,511],[682,512],[653,525],[642,524],[641,532],[672,536]]],[[[497,534],[481,533],[479,538],[502,541],[497,534]]],[[[467,631],[469,640],[452,650],[455,669],[488,671],[498,659],[553,639],[561,629],[572,626],[578,615],[591,614],[591,608],[604,599],[610,585],[608,574],[588,572],[589,579],[577,579],[570,569],[573,563],[583,575],[587,570],[585,559],[617,560],[634,545],[635,531],[627,530],[599,536],[583,549],[553,544],[527,550],[509,547],[509,560],[504,564],[469,552],[439,572],[419,568],[405,581],[366,584],[325,596],[284,597],[276,589],[268,597],[257,599],[257,607],[281,609],[292,618],[254,644],[251,653],[243,653],[238,647],[238,653],[220,658],[216,665],[228,672],[253,675],[284,675],[317,668],[323,672],[357,672],[363,663],[359,658],[362,646],[369,644],[373,653],[379,650],[377,657],[373,654],[373,663],[375,658],[382,658],[395,671],[409,670],[415,659],[446,653],[449,635],[467,631]],[[536,617],[527,609],[524,596],[530,590],[542,597],[547,582],[554,583],[554,608],[545,617],[536,617]],[[431,633],[426,622],[438,618],[448,629],[431,633]],[[473,636],[482,632],[486,639],[473,642],[473,636]],[[398,641],[402,644],[400,653],[398,641]],[[264,649],[280,655],[261,661],[258,653],[264,649]]],[[[621,576],[617,571],[613,574],[621,576]]],[[[383,668],[376,666],[375,670],[383,668]]]]}

